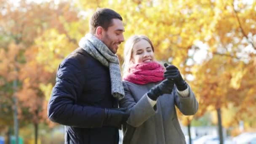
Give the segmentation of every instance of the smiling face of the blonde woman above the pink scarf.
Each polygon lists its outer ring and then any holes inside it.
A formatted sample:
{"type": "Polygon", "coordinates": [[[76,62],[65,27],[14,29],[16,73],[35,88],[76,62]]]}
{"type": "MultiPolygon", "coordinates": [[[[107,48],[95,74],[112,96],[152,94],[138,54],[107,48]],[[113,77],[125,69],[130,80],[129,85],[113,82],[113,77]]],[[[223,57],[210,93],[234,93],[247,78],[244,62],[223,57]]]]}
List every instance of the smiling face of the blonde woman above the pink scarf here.
{"type": "Polygon", "coordinates": [[[131,61],[133,64],[155,61],[154,52],[147,40],[142,39],[133,45],[131,61]]]}

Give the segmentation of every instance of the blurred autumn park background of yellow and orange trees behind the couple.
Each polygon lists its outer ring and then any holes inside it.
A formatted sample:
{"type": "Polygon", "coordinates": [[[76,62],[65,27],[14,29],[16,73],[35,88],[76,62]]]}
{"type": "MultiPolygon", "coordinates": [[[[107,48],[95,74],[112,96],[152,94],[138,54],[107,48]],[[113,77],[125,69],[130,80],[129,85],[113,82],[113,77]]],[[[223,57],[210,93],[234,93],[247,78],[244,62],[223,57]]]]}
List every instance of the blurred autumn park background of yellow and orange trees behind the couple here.
{"type": "MultiPolygon", "coordinates": [[[[256,144],[256,0],[0,0],[0,144],[64,143],[47,103],[97,8],[121,14],[125,39],[147,35],[191,85],[187,144],[256,144]]],[[[123,63],[123,44],[117,54],[123,63]]]]}

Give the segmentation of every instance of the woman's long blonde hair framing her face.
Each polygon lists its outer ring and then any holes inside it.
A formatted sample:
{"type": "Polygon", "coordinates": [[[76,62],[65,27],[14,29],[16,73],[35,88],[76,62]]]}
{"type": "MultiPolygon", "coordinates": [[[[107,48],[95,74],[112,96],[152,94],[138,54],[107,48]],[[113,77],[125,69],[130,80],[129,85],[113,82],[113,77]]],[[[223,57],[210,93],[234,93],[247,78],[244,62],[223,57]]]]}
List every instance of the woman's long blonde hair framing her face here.
{"type": "Polygon", "coordinates": [[[154,52],[154,47],[152,45],[152,42],[149,40],[148,37],[145,35],[133,35],[131,36],[125,43],[124,48],[124,62],[123,62],[123,77],[127,75],[130,72],[129,65],[131,64],[131,56],[133,52],[133,46],[134,44],[138,43],[140,40],[147,40],[149,44],[151,45],[152,51],[154,52]]]}

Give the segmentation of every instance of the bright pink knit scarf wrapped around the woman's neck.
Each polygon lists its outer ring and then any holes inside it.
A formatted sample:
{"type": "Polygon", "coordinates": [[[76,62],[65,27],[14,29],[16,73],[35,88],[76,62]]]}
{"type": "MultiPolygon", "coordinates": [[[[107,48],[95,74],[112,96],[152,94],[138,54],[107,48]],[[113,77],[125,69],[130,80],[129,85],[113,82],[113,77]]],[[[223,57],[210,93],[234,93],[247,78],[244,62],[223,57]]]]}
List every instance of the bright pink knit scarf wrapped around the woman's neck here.
{"type": "Polygon", "coordinates": [[[157,62],[132,64],[130,72],[124,77],[131,83],[144,85],[147,83],[156,83],[162,81],[165,69],[157,62]]]}

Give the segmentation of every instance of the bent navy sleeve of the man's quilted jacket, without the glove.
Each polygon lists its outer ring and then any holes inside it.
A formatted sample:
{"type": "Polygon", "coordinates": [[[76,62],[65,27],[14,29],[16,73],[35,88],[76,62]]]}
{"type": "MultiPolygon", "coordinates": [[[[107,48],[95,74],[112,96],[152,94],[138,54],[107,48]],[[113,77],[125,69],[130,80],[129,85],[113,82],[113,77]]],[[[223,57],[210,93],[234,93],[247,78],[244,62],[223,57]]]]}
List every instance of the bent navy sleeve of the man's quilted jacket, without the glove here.
{"type": "Polygon", "coordinates": [[[48,102],[51,121],[74,127],[101,127],[105,112],[102,108],[77,105],[77,97],[83,91],[84,76],[78,60],[65,59],[58,68],[56,84],[48,102]]]}

